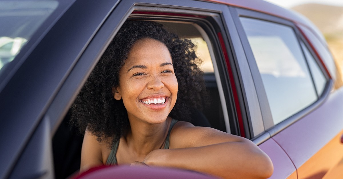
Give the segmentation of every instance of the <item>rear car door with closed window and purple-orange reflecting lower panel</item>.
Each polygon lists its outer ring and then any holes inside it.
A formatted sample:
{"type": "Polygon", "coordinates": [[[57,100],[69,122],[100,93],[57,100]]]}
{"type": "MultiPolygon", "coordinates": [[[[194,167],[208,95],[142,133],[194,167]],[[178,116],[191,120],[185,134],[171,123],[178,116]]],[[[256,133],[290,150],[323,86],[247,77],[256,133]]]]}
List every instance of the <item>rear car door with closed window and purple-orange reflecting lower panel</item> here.
{"type": "Polygon", "coordinates": [[[236,12],[264,127],[297,169],[290,177],[329,175],[343,157],[342,89],[333,90],[331,55],[308,26],[301,30],[273,15],[236,12]]]}

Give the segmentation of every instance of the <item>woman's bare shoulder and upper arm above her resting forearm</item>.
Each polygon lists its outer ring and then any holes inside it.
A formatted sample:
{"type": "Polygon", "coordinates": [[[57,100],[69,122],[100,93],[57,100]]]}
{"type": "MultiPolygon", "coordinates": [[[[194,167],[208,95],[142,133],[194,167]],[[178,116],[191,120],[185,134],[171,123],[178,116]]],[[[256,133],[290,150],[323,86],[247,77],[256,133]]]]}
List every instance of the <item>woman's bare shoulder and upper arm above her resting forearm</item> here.
{"type": "Polygon", "coordinates": [[[223,142],[243,142],[248,139],[210,128],[196,127],[185,121],[175,124],[170,133],[170,149],[191,148],[223,142]]]}

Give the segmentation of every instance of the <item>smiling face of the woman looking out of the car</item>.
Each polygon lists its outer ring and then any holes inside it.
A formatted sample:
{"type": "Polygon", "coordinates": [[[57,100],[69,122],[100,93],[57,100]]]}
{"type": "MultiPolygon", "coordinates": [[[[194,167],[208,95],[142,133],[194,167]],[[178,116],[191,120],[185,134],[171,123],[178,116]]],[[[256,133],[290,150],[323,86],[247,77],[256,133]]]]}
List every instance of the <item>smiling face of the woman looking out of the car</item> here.
{"type": "Polygon", "coordinates": [[[130,120],[160,124],[173,109],[178,91],[169,50],[164,43],[143,38],[135,42],[119,71],[114,98],[123,100],[130,120]]]}

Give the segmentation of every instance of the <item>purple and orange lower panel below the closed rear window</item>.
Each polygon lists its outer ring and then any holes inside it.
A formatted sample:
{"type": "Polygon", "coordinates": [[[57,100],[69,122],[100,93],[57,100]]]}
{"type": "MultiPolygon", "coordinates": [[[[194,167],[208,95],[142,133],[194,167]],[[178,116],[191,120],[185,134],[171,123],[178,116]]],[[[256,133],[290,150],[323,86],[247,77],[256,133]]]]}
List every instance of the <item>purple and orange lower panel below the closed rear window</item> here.
{"type": "Polygon", "coordinates": [[[343,156],[343,146],[339,141],[343,132],[342,99],[341,88],[332,92],[327,101],[316,110],[272,137],[294,162],[299,178],[316,173],[325,174],[343,156]],[[336,151],[335,154],[332,154],[333,151],[336,151]],[[331,162],[328,164],[330,158],[331,162]]]}

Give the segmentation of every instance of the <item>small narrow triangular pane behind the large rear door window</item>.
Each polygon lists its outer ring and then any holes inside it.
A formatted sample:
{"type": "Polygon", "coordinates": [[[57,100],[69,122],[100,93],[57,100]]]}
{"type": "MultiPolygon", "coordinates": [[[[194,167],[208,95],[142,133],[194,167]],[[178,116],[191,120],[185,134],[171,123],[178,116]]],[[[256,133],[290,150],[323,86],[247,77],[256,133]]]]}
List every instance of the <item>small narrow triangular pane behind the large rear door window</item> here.
{"type": "Polygon", "coordinates": [[[312,74],[313,80],[315,82],[315,86],[317,89],[318,96],[320,96],[320,94],[324,90],[324,87],[326,84],[326,78],[325,78],[323,72],[321,71],[321,69],[319,68],[318,63],[316,62],[316,60],[311,55],[310,51],[308,50],[308,48],[305,46],[305,44],[303,42],[301,42],[301,46],[303,47],[306,60],[307,60],[308,65],[311,69],[311,74],[312,74]]]}

